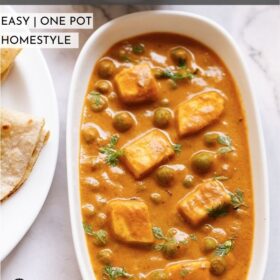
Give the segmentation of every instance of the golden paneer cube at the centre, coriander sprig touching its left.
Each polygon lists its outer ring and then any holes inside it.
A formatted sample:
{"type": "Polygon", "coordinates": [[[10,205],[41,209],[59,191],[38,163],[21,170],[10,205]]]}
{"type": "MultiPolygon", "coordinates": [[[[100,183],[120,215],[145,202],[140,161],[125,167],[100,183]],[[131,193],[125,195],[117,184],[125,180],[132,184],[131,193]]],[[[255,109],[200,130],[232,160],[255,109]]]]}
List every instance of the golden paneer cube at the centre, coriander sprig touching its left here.
{"type": "Polygon", "coordinates": [[[139,179],[174,155],[164,132],[152,129],[123,147],[125,165],[139,179]]]}

